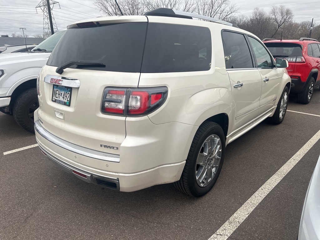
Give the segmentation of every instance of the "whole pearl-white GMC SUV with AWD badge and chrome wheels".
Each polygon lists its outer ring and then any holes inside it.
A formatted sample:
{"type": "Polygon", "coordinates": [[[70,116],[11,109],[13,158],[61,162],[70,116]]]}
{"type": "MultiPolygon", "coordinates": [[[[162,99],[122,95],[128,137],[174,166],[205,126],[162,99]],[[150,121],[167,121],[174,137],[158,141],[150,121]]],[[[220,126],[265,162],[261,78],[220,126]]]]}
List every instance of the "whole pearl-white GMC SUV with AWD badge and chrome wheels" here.
{"type": "Polygon", "coordinates": [[[205,16],[161,8],[80,21],[40,72],[36,140],[86,182],[124,192],[174,182],[202,196],[228,143],[283,121],[287,66],[258,37],[205,16]]]}

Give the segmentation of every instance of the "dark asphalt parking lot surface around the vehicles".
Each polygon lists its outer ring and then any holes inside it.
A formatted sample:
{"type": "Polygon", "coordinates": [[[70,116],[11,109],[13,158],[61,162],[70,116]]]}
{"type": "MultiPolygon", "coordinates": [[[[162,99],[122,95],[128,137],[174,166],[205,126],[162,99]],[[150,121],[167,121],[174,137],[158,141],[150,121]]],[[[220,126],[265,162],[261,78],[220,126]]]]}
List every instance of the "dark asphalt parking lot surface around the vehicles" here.
{"type": "Polygon", "coordinates": [[[8,153],[36,139],[0,113],[0,239],[220,239],[221,226],[232,228],[230,217],[303,148],[297,164],[223,238],[295,240],[320,154],[320,140],[305,144],[319,121],[319,88],[308,105],[290,96],[284,122],[264,121],[229,144],[217,183],[193,198],[172,184],[132,193],[101,188],[58,169],[38,147],[8,153]]]}

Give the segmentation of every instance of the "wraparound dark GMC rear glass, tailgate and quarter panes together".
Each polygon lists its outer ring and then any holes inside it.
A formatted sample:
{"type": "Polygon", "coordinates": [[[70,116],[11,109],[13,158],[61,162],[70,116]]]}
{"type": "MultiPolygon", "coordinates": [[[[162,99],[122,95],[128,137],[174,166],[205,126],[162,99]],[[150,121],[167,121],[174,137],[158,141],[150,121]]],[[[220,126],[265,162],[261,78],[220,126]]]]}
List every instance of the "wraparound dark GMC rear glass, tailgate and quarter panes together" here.
{"type": "Polygon", "coordinates": [[[211,33],[204,27],[146,22],[69,28],[47,65],[71,60],[102,62],[105,68],[85,68],[103,71],[204,71],[211,67],[211,33]]]}

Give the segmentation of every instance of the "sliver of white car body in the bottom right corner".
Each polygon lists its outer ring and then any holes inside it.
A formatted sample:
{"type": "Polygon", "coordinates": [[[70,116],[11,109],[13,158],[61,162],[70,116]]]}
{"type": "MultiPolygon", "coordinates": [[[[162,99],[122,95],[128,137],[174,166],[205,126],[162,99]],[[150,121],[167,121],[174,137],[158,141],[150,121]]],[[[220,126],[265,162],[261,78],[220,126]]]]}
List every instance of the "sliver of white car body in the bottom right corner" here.
{"type": "Polygon", "coordinates": [[[320,239],[320,157],[313,171],[303,205],[298,240],[320,239]]]}

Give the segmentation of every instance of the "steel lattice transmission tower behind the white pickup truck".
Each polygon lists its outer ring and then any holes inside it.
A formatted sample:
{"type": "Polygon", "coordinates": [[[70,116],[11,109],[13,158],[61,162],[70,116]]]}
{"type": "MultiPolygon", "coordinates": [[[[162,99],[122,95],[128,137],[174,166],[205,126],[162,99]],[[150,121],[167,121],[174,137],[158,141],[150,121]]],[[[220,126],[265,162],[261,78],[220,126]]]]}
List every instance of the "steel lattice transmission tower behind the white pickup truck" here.
{"type": "MultiPolygon", "coordinates": [[[[54,4],[59,2],[53,0],[42,0],[37,6],[43,12],[43,37],[50,37],[54,32],[58,31],[56,21],[54,20],[52,9],[54,4]],[[51,7],[52,5],[52,7],[51,7]]],[[[60,7],[60,4],[59,4],[60,7]]]]}

